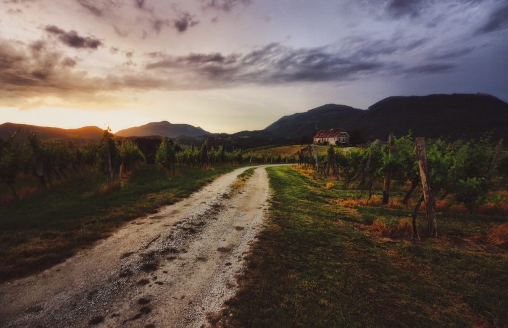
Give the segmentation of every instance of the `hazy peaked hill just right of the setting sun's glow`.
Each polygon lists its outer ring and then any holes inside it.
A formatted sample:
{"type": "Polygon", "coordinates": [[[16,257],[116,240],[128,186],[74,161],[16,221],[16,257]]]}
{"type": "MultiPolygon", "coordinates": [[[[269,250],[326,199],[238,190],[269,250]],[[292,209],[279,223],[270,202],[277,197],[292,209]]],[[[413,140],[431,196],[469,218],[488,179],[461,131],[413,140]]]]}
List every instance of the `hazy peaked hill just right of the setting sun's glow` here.
{"type": "Polygon", "coordinates": [[[198,137],[210,134],[200,127],[194,127],[188,124],[172,124],[168,121],[152,122],[139,127],[123,129],[115,133],[120,137],[148,137],[163,135],[165,137],[176,138],[179,136],[198,137]]]}

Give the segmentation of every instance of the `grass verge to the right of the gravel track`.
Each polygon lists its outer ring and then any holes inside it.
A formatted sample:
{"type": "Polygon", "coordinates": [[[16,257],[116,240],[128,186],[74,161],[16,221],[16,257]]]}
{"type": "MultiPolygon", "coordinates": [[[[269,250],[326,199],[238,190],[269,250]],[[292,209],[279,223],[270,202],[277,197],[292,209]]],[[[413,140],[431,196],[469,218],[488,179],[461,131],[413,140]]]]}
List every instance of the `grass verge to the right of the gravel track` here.
{"type": "Polygon", "coordinates": [[[248,255],[239,292],[214,324],[508,324],[506,251],[453,243],[455,235],[446,234],[486,234],[485,222],[452,215],[439,218],[453,229],[437,239],[380,237],[371,233],[374,218],[400,219],[410,211],[344,206],[335,200],[351,191],[330,189],[290,167],[267,170],[273,189],[268,226],[248,255]]]}

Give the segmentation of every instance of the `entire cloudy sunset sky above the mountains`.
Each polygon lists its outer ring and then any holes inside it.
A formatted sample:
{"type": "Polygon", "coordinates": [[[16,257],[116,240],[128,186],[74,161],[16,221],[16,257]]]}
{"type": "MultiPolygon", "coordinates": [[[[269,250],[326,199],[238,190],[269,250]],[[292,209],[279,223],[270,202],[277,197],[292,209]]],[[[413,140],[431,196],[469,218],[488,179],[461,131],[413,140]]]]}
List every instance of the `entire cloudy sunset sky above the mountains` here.
{"type": "Polygon", "coordinates": [[[263,129],[326,103],[508,101],[506,0],[0,0],[0,123],[263,129]]]}

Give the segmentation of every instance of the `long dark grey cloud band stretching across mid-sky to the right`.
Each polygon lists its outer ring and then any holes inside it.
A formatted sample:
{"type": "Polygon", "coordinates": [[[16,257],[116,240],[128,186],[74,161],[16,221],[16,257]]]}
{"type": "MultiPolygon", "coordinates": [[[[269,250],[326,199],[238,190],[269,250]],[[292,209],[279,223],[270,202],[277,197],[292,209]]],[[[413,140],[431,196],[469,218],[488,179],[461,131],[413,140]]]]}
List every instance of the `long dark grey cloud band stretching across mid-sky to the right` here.
{"type": "MultiPolygon", "coordinates": [[[[389,61],[390,55],[425,43],[424,40],[394,43],[391,40],[364,40],[348,50],[334,47],[295,49],[271,43],[244,54],[190,53],[170,56],[146,53],[148,71],[167,76],[186,76],[206,85],[242,83],[277,84],[293,82],[350,81],[364,76],[396,76],[450,72],[450,63],[434,60],[416,66],[389,61]],[[390,46],[388,46],[390,45],[390,46]]],[[[443,57],[443,59],[445,59],[443,57]]]]}

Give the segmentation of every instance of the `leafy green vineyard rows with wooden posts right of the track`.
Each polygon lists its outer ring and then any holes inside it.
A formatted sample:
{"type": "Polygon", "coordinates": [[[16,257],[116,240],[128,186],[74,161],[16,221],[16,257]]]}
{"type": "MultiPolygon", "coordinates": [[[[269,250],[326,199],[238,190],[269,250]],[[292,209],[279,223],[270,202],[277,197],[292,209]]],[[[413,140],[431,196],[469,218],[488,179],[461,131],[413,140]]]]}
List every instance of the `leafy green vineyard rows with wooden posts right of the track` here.
{"type": "MultiPolygon", "coordinates": [[[[388,143],[375,140],[365,148],[347,152],[330,146],[326,155],[317,154],[309,146],[307,152],[299,152],[298,162],[305,169],[312,168],[316,176],[325,179],[333,176],[336,188],[358,190],[354,198],[362,199],[365,195],[367,203],[375,202],[372,194],[376,188],[383,191],[384,205],[398,202],[407,206],[413,200],[413,220],[422,203],[430,203],[431,208],[426,211],[435,212],[435,199],[440,205],[446,199],[446,207],[465,206],[469,213],[489,203],[494,211],[506,214],[508,207],[503,207],[501,194],[495,192],[505,189],[508,182],[508,153],[502,153],[502,140],[492,142],[487,136],[470,141],[425,142],[423,138],[416,141],[410,134],[400,138],[390,135],[388,143]],[[403,191],[403,197],[391,200],[391,188],[397,194],[403,191]],[[417,189],[421,191],[414,201],[411,197],[417,189]]],[[[428,216],[432,216],[428,220],[435,221],[435,214],[428,216]]],[[[429,225],[435,223],[429,221],[429,225]]],[[[431,231],[435,227],[429,229],[429,233],[435,234],[431,231]]]]}

